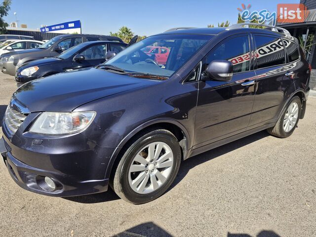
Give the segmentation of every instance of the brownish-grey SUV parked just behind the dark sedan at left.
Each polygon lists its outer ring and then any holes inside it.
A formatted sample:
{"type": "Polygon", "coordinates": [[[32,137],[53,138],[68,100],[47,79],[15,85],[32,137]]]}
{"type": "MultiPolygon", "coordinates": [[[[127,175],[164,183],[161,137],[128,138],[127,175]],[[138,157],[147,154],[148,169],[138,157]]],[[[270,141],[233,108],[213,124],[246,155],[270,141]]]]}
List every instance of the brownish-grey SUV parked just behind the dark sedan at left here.
{"type": "Polygon", "coordinates": [[[23,64],[36,59],[54,57],[66,49],[86,41],[115,41],[123,42],[118,37],[101,35],[61,35],[52,38],[39,48],[23,50],[23,52],[4,53],[0,57],[0,69],[2,73],[14,76],[16,70],[23,64]]]}

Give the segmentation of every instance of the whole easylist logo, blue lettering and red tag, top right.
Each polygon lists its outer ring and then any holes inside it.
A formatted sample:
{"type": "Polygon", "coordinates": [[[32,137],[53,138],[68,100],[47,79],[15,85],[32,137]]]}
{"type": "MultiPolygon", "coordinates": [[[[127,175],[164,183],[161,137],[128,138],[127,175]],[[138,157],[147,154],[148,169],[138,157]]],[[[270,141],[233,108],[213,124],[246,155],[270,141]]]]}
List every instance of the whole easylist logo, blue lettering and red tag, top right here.
{"type": "Polygon", "coordinates": [[[276,26],[278,23],[297,23],[304,22],[309,14],[307,7],[304,4],[277,4],[277,13],[269,12],[267,9],[260,11],[250,11],[250,4],[245,6],[241,4],[242,8],[237,8],[241,11],[241,19],[243,21],[257,21],[259,24],[270,23],[276,26]]]}

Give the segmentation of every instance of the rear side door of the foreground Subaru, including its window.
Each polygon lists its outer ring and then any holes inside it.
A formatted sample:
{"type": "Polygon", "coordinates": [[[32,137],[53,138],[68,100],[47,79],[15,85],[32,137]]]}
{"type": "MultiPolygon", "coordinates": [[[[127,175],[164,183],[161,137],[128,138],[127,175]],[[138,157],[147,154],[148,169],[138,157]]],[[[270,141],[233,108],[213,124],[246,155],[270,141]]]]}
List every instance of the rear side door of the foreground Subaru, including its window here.
{"type": "Polygon", "coordinates": [[[256,45],[255,67],[257,90],[248,129],[272,122],[278,117],[286,91],[293,89],[286,64],[284,43],[281,38],[253,34],[256,45]]]}

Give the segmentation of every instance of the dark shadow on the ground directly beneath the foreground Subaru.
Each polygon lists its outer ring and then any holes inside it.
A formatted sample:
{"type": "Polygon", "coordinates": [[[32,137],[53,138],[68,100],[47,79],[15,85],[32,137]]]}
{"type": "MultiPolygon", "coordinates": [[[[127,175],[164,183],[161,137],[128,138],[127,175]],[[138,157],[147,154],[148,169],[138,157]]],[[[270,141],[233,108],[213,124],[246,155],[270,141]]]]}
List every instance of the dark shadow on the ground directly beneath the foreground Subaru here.
{"type": "MultiPolygon", "coordinates": [[[[187,175],[189,170],[194,168],[195,166],[203,162],[206,162],[208,160],[211,160],[213,158],[222,156],[226,153],[232,152],[240,147],[243,147],[245,145],[258,141],[267,136],[269,136],[269,134],[266,131],[261,131],[261,132],[252,134],[250,136],[241,138],[235,142],[231,142],[229,144],[223,145],[221,147],[212,149],[208,152],[204,152],[200,155],[197,155],[195,157],[182,161],[177,177],[175,181],[173,182],[173,184],[171,185],[171,187],[168,189],[168,191],[171,190],[173,187],[175,187],[179,182],[181,182],[181,180],[187,175]]],[[[65,197],[65,198],[71,201],[76,201],[76,202],[81,202],[81,203],[97,203],[97,202],[117,200],[119,197],[109,187],[109,190],[105,193],[84,195],[84,196],[78,196],[78,197],[65,197]]]]}

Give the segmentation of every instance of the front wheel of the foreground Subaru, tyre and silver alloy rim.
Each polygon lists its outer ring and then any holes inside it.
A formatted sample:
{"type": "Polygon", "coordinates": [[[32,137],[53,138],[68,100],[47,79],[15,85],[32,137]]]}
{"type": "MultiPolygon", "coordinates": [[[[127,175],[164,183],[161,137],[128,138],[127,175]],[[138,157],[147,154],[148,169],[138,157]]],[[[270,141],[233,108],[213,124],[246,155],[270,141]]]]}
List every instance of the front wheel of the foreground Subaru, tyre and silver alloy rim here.
{"type": "Polygon", "coordinates": [[[174,181],[181,162],[179,142],[168,130],[149,130],[138,137],[126,146],[110,181],[120,198],[134,204],[160,197],[174,181]]]}

